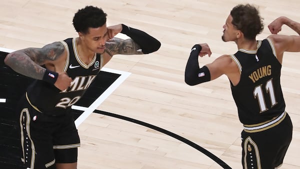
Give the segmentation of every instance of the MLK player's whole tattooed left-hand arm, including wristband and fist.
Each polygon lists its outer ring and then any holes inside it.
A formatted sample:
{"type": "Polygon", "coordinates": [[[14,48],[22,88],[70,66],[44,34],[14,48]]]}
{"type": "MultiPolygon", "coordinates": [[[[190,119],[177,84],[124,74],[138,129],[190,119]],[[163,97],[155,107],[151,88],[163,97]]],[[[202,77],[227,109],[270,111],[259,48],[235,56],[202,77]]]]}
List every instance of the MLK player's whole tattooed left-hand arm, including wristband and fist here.
{"type": "Polygon", "coordinates": [[[47,81],[64,90],[72,80],[66,72],[58,73],[40,66],[46,63],[55,64],[64,54],[63,44],[53,42],[42,48],[30,47],[13,51],[6,55],[4,62],[20,74],[47,81]]]}

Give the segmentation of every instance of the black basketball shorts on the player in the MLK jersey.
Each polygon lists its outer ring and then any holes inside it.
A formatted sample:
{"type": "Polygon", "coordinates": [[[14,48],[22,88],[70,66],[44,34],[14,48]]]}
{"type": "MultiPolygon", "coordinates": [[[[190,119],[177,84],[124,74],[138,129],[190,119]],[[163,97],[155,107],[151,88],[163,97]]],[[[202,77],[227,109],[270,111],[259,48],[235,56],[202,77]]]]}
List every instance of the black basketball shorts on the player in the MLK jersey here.
{"type": "Polygon", "coordinates": [[[20,140],[26,167],[55,168],[55,163],[77,161],[79,135],[71,112],[49,116],[37,111],[22,97],[20,106],[20,140]]]}

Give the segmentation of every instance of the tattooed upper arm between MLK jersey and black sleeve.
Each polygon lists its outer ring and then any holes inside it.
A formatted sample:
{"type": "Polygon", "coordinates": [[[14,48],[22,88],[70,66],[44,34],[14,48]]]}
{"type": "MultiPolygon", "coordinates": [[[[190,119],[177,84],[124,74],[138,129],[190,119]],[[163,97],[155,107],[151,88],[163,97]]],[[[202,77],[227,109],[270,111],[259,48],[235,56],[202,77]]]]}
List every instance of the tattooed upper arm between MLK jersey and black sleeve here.
{"type": "Polygon", "coordinates": [[[132,39],[112,38],[105,43],[105,51],[110,55],[114,54],[143,54],[139,45],[132,39]]]}

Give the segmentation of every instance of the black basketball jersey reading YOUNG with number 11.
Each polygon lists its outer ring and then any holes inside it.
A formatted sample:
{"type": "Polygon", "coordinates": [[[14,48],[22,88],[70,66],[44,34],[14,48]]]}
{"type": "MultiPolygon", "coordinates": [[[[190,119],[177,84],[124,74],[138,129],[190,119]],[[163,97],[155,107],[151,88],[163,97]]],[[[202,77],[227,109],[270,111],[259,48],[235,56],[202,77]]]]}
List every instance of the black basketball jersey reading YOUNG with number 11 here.
{"type": "Polygon", "coordinates": [[[258,40],[257,50],[239,49],[231,55],[240,71],[240,81],[231,92],[243,124],[257,124],[284,112],[280,86],[281,64],[270,39],[258,40]]]}

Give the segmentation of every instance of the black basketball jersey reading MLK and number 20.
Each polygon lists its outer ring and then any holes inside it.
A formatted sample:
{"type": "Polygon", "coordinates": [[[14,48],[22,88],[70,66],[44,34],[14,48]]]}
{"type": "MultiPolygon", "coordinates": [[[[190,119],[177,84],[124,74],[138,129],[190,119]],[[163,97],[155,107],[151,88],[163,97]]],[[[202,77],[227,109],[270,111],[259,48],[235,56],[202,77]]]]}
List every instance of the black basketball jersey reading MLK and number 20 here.
{"type": "Polygon", "coordinates": [[[66,109],[69,110],[70,106],[80,99],[103,65],[102,54],[96,53],[88,65],[83,63],[76,50],[76,38],[68,38],[60,42],[67,51],[63,71],[72,78],[71,85],[61,91],[53,84],[35,80],[27,88],[29,103],[49,115],[60,115],[66,109]]]}

